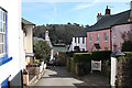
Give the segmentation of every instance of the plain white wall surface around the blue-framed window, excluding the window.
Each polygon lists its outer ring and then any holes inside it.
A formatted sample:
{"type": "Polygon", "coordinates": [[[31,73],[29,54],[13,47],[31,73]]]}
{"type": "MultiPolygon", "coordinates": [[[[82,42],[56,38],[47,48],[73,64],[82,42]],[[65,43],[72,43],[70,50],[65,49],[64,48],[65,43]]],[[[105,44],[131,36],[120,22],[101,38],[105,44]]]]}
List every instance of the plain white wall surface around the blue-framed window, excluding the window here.
{"type": "Polygon", "coordinates": [[[0,0],[0,7],[8,11],[8,55],[13,58],[0,66],[1,84],[10,75],[11,80],[22,69],[21,0],[0,0]]]}

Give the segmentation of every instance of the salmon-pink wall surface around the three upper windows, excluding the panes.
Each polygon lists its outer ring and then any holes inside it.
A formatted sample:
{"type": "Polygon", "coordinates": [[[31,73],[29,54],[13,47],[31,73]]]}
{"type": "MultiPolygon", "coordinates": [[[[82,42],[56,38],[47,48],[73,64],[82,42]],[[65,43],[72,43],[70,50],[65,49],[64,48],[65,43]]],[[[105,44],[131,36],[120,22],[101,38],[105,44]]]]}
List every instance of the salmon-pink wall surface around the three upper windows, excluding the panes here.
{"type": "Polygon", "coordinates": [[[86,38],[86,47],[88,52],[92,52],[94,44],[99,44],[101,50],[105,51],[106,47],[110,51],[110,29],[101,30],[101,31],[94,31],[94,32],[87,32],[87,38],[86,38]],[[108,41],[105,41],[105,33],[108,33],[108,41]],[[99,34],[99,42],[97,42],[97,34],[99,34]],[[90,42],[90,35],[91,35],[91,42],[90,42]]]}

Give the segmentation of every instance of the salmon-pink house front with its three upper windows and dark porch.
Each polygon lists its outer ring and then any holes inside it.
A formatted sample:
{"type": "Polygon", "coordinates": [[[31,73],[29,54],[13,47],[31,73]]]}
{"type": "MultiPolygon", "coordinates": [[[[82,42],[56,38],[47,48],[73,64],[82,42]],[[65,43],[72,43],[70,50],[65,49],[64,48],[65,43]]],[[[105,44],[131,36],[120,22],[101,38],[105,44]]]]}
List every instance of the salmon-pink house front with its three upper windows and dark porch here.
{"type": "Polygon", "coordinates": [[[88,52],[94,51],[110,51],[110,29],[87,32],[87,50],[88,52]]]}

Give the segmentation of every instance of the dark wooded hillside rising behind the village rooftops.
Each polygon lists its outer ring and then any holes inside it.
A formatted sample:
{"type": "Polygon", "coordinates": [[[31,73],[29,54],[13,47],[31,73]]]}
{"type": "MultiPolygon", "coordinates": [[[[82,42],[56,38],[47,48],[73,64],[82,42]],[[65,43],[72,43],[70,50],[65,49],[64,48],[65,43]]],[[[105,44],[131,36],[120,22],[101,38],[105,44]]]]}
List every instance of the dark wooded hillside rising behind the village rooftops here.
{"type": "Polygon", "coordinates": [[[69,45],[72,37],[81,33],[85,28],[76,23],[40,25],[34,29],[34,36],[44,38],[46,30],[50,31],[50,38],[53,44],[62,42],[69,45]]]}

